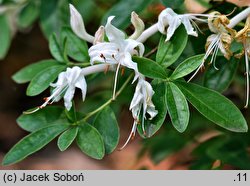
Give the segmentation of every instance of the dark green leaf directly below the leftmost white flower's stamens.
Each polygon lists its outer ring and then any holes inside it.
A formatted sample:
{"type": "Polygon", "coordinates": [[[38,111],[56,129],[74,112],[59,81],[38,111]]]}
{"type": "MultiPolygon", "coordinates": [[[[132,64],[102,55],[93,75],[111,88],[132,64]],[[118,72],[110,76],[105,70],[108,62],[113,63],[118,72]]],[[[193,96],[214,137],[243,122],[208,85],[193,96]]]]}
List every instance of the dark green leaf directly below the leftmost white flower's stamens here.
{"type": "Polygon", "coordinates": [[[32,114],[22,114],[17,118],[18,125],[29,132],[34,132],[48,125],[68,124],[64,109],[58,106],[47,106],[32,114]]]}

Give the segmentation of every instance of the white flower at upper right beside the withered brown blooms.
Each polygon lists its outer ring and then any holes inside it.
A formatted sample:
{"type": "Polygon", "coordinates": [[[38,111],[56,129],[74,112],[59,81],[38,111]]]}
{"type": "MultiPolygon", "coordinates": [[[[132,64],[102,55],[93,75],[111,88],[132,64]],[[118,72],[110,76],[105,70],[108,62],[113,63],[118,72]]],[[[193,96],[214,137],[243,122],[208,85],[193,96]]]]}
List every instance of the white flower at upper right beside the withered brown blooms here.
{"type": "Polygon", "coordinates": [[[209,15],[207,14],[180,14],[178,15],[171,8],[167,8],[160,13],[158,17],[157,27],[158,27],[158,30],[162,34],[167,34],[166,41],[169,41],[171,39],[175,30],[181,24],[185,26],[185,29],[188,35],[197,37],[198,33],[196,32],[195,28],[196,29],[199,29],[199,28],[197,24],[194,22],[194,20],[202,21],[202,22],[206,22],[206,20],[197,18],[196,16],[208,17],[209,15]]]}

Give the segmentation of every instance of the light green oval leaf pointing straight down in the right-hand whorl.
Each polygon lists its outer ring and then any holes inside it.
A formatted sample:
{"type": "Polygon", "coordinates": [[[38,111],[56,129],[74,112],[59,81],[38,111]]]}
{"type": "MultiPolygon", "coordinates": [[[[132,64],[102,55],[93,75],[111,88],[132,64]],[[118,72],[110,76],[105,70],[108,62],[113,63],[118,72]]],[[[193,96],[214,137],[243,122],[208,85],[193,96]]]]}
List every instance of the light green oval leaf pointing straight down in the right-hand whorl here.
{"type": "Polygon", "coordinates": [[[174,83],[167,83],[167,108],[173,126],[184,132],[189,122],[188,103],[181,90],[174,83]]]}

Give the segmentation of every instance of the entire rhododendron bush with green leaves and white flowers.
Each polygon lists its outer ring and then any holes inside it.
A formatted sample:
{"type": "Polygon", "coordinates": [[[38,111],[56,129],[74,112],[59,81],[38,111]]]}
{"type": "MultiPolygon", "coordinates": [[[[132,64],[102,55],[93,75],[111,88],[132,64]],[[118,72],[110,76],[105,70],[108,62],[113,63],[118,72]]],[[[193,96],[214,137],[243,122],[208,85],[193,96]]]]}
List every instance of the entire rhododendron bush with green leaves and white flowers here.
{"type": "Polygon", "coordinates": [[[30,134],[3,165],[57,137],[61,151],[76,142],[101,160],[139,135],[141,154],[155,163],[196,141],[190,168],[211,169],[218,160],[216,168],[250,168],[250,7],[198,0],[0,2],[0,57],[18,31],[36,22],[51,53],[12,76],[28,83],[30,99],[49,91],[20,113],[17,123],[30,134]],[[186,6],[192,3],[204,7],[192,13],[186,6]],[[232,99],[235,86],[241,94],[232,99]],[[133,122],[118,123],[124,107],[133,122]],[[121,124],[131,127],[122,142],[121,124]],[[209,132],[216,135],[199,140],[209,132]]]}

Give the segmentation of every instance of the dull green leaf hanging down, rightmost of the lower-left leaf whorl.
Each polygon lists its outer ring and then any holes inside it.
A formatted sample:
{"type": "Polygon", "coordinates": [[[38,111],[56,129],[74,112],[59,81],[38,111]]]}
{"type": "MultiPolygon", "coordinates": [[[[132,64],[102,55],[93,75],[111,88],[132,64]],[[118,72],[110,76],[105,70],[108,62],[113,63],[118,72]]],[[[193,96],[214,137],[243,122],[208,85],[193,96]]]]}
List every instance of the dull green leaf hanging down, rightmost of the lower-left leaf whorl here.
{"type": "Polygon", "coordinates": [[[118,145],[120,133],[115,114],[110,107],[103,109],[95,118],[93,126],[102,135],[105,152],[110,154],[118,145]]]}

